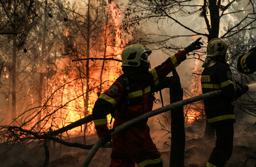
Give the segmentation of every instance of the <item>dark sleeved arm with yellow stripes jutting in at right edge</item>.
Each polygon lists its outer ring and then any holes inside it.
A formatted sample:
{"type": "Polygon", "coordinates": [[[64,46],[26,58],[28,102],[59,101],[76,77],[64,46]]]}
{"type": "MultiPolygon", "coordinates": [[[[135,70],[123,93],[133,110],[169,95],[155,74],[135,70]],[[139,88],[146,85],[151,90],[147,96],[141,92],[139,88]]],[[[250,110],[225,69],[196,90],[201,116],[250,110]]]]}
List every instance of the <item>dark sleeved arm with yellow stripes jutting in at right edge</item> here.
{"type": "Polygon", "coordinates": [[[243,74],[253,74],[256,72],[256,47],[248,53],[238,57],[237,69],[243,74]]]}

